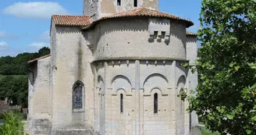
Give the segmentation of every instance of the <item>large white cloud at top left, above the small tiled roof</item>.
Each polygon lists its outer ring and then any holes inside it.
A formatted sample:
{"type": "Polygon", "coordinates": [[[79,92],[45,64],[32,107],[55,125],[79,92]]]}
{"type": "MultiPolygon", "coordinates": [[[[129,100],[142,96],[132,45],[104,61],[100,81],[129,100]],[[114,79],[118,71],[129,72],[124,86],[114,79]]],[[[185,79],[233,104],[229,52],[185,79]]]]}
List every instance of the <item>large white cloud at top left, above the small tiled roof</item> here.
{"type": "Polygon", "coordinates": [[[2,10],[7,15],[50,19],[53,14],[68,14],[58,2],[16,2],[2,10]]]}

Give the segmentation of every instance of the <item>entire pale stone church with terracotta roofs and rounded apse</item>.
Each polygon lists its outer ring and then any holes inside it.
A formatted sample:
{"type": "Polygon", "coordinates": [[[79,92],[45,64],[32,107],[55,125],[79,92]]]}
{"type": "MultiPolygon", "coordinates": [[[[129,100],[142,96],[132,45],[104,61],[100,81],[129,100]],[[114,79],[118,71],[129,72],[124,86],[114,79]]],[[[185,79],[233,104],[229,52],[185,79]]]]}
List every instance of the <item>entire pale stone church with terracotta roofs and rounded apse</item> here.
{"type": "Polygon", "coordinates": [[[51,54],[28,62],[29,134],[189,135],[193,25],[158,0],[84,0],[83,16],[52,16],[51,54]]]}

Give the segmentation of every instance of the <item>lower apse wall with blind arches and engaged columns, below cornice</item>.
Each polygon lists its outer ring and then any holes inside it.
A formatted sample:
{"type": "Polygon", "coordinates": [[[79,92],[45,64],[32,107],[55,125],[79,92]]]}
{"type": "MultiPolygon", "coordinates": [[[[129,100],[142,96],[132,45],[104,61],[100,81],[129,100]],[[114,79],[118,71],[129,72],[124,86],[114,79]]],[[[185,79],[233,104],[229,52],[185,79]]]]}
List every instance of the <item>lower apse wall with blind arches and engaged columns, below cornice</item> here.
{"type": "Polygon", "coordinates": [[[186,89],[187,70],[180,63],[95,62],[98,80],[95,80],[94,130],[103,134],[188,135],[184,130],[185,106],[179,104],[178,94],[179,89],[186,89]],[[184,80],[180,80],[182,77],[184,80]],[[120,112],[120,94],[123,94],[123,112],[120,112]],[[158,94],[157,114],[154,114],[154,94],[158,94]]]}

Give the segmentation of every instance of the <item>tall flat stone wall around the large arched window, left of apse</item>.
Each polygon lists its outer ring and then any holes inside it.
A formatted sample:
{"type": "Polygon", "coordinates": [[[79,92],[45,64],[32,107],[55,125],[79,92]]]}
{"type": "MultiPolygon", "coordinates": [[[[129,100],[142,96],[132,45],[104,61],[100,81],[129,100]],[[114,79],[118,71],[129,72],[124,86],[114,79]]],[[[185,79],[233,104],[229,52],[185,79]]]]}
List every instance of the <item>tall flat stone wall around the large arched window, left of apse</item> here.
{"type": "MultiPolygon", "coordinates": [[[[52,78],[52,128],[91,129],[94,125],[92,52],[77,27],[56,27],[55,77],[52,78]],[[68,54],[68,55],[67,55],[68,54]],[[84,83],[83,108],[73,110],[73,84],[84,83]]],[[[89,36],[90,37],[90,36],[89,36]]]]}

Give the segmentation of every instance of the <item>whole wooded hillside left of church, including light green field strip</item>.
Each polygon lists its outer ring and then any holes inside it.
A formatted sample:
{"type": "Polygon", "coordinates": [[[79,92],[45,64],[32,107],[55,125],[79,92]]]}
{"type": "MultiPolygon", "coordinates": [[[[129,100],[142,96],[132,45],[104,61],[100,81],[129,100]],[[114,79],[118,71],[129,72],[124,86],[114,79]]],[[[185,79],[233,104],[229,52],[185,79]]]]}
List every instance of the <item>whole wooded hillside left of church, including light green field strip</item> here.
{"type": "Polygon", "coordinates": [[[27,108],[28,79],[27,62],[43,55],[50,54],[49,48],[41,48],[39,52],[22,53],[16,57],[0,58],[0,100],[6,97],[12,105],[22,105],[27,108]]]}

